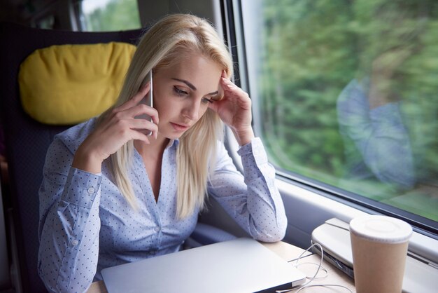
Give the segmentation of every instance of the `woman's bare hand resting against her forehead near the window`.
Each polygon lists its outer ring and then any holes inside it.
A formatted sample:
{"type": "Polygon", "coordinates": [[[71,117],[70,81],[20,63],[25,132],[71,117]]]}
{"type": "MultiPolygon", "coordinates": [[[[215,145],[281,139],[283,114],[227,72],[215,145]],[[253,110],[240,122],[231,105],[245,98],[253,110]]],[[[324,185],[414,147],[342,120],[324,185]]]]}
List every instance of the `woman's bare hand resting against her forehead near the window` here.
{"type": "Polygon", "coordinates": [[[251,126],[251,100],[247,93],[227,79],[225,71],[220,77],[220,86],[224,97],[220,101],[209,104],[209,108],[218,113],[220,119],[227,124],[242,146],[254,138],[251,126]]]}

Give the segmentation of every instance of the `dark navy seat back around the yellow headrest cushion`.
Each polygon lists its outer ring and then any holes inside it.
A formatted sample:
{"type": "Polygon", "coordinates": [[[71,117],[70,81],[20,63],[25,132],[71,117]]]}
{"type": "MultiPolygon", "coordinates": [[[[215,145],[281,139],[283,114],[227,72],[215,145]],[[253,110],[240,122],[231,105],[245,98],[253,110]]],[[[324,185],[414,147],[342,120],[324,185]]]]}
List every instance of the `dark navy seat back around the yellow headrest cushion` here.
{"type": "MultiPolygon", "coordinates": [[[[141,29],[120,32],[66,32],[0,23],[0,105],[8,160],[13,221],[20,252],[24,292],[46,292],[38,276],[38,189],[45,153],[53,137],[68,125],[38,123],[22,109],[17,75],[22,61],[36,49],[52,45],[108,43],[136,44],[141,29]]],[[[37,76],[36,76],[37,78],[37,76]]]]}

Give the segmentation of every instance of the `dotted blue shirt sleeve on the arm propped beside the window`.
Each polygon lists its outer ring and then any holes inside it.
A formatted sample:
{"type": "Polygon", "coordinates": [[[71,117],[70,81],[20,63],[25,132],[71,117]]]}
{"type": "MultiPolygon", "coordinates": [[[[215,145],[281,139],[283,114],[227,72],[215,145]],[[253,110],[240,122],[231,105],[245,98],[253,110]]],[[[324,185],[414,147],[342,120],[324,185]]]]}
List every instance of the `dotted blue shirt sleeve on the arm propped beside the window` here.
{"type": "Polygon", "coordinates": [[[287,219],[275,185],[275,169],[267,160],[262,141],[253,139],[238,154],[244,175],[220,144],[209,193],[250,236],[264,242],[279,241],[285,236],[287,219]]]}

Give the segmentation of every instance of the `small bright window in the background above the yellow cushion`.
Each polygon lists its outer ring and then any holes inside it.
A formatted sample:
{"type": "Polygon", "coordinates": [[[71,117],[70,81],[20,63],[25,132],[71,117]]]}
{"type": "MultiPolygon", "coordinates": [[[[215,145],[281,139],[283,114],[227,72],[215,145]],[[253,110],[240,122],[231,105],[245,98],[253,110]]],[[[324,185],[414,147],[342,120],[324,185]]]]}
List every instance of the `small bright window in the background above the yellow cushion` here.
{"type": "Polygon", "coordinates": [[[82,0],[78,2],[80,28],[102,32],[141,27],[136,0],[82,0]]]}

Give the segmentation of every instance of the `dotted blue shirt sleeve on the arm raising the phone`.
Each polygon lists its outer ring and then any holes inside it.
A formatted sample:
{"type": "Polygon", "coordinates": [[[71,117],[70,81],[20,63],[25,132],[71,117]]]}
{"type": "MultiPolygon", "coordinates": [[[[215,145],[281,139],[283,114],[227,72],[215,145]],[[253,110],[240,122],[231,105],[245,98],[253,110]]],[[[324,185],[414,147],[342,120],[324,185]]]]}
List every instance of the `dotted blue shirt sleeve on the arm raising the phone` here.
{"type": "Polygon", "coordinates": [[[85,292],[97,268],[101,175],[71,168],[72,158],[55,139],[39,191],[38,273],[50,292],[85,292]]]}

